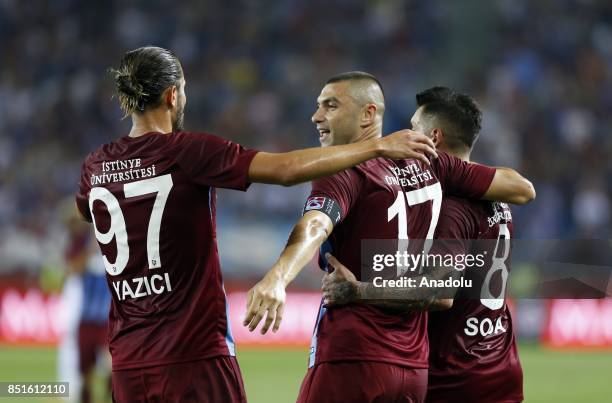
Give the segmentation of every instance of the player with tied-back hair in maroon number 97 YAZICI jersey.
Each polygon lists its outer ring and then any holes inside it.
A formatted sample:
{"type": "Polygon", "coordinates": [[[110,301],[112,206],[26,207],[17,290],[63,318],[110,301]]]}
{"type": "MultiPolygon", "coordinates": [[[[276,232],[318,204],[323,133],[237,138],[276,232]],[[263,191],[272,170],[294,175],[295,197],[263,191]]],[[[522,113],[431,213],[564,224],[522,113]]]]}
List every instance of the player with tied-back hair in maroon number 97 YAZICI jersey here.
{"type": "MultiPolygon", "coordinates": [[[[128,135],[87,156],[76,204],[91,221],[112,294],[109,348],[118,402],[243,402],[216,244],[215,188],[291,185],[368,159],[435,157],[427,137],[273,154],[183,131],[185,77],[158,47],[112,70],[128,135]]],[[[240,117],[237,117],[240,118],[240,117]]]]}

